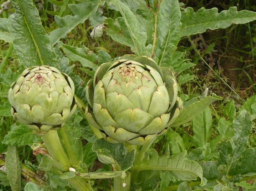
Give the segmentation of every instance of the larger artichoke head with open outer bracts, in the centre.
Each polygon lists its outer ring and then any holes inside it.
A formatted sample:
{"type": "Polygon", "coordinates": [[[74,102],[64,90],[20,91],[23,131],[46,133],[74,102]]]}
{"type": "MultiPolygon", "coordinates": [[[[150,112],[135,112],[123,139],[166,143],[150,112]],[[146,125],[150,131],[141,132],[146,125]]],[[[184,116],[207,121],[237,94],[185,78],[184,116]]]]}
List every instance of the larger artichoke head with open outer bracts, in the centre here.
{"type": "Polygon", "coordinates": [[[143,145],[167,131],[183,107],[167,67],[125,55],[104,63],[86,86],[86,118],[112,143],[143,145]]]}

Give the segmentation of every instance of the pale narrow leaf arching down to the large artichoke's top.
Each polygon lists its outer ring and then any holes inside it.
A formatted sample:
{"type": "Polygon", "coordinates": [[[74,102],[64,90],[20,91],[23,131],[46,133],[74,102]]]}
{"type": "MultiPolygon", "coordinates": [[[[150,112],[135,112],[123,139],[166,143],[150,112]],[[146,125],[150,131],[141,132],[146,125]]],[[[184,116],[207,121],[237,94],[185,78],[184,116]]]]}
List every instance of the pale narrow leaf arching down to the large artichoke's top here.
{"type": "Polygon", "coordinates": [[[149,44],[147,47],[145,46],[147,34],[145,32],[140,32],[138,20],[134,16],[133,12],[129,9],[129,7],[120,1],[110,1],[109,4],[116,6],[122,14],[138,56],[150,56],[152,45],[149,44]]]}

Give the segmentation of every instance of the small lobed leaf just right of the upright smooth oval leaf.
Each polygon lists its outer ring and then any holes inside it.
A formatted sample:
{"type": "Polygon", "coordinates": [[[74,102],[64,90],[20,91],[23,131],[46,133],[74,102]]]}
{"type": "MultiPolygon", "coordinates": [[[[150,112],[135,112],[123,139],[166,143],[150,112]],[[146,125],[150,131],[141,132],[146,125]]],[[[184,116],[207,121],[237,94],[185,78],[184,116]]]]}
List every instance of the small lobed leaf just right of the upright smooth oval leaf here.
{"type": "Polygon", "coordinates": [[[212,150],[218,149],[224,140],[232,136],[231,124],[232,122],[226,121],[225,118],[219,118],[218,126],[216,128],[218,135],[214,139],[210,140],[210,147],[212,150]]]}

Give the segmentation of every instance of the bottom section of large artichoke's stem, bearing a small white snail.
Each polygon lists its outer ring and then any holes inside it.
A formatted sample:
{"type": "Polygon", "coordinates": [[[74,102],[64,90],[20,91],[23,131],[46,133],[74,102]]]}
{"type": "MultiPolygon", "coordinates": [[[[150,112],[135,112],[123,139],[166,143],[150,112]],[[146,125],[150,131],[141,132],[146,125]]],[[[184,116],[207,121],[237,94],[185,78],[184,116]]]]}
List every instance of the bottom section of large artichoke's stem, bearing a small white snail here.
{"type": "Polygon", "coordinates": [[[127,172],[125,178],[115,177],[114,178],[114,191],[130,191],[131,187],[131,173],[127,172]]]}

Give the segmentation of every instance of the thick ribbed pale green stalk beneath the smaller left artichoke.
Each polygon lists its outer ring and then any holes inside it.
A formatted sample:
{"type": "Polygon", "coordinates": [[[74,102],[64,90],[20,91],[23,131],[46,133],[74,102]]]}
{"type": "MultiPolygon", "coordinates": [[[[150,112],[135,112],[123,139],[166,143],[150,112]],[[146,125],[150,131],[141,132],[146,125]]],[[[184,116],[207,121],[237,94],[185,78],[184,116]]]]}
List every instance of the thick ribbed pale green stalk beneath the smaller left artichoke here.
{"type": "MultiPolygon", "coordinates": [[[[73,167],[69,161],[67,155],[65,154],[61,142],[58,136],[57,131],[50,130],[44,136],[42,136],[44,144],[48,150],[48,153],[51,155],[55,166],[62,172],[67,172],[69,167],[73,167]]],[[[72,179],[67,179],[67,181],[77,190],[77,191],[94,191],[91,188],[91,185],[75,176],[72,179]]]]}

